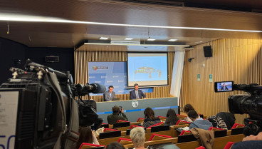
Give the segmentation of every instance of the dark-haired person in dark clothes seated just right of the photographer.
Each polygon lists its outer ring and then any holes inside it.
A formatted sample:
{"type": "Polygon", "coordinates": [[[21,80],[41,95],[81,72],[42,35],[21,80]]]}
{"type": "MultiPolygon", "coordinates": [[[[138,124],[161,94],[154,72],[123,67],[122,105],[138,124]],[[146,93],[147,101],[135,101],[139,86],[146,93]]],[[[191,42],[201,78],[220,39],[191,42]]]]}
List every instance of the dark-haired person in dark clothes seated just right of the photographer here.
{"type": "Polygon", "coordinates": [[[143,127],[148,128],[151,125],[160,123],[161,120],[159,118],[154,117],[154,111],[152,110],[152,108],[146,108],[144,111],[144,115],[145,115],[145,120],[142,124],[143,127]]]}

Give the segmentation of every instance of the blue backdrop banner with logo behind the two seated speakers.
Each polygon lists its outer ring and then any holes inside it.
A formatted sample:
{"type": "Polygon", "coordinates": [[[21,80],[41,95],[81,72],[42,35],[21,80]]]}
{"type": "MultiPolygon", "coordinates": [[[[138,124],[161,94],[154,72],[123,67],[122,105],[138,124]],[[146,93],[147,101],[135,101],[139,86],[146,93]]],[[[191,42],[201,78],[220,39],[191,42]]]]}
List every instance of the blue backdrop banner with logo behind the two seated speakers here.
{"type": "MultiPolygon", "coordinates": [[[[89,83],[114,86],[116,94],[127,94],[132,89],[127,89],[127,62],[88,62],[89,83]]],[[[143,93],[152,93],[153,88],[141,88],[143,93]]],[[[93,94],[90,96],[101,96],[93,94]]]]}

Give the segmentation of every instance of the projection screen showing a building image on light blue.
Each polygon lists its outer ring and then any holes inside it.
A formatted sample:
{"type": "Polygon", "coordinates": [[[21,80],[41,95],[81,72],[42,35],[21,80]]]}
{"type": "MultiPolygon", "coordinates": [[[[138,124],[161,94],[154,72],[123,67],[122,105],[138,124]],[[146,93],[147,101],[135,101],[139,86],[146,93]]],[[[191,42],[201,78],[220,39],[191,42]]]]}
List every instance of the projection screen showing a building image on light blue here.
{"type": "Polygon", "coordinates": [[[127,86],[168,86],[167,53],[127,53],[127,86]]]}

